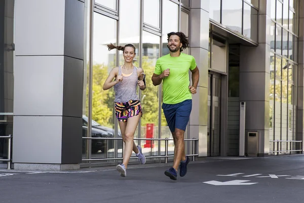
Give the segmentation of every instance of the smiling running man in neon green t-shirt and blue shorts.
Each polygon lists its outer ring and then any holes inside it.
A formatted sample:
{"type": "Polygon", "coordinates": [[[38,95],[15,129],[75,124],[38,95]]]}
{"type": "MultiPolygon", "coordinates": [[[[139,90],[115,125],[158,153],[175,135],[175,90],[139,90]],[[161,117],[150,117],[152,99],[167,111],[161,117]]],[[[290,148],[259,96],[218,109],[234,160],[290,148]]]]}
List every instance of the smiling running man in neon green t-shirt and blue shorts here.
{"type": "Polygon", "coordinates": [[[192,55],[181,53],[189,46],[187,37],[182,32],[168,33],[170,54],[160,57],[155,66],[152,82],[155,86],[163,84],[163,105],[166,121],[174,140],[173,167],[165,175],[177,180],[187,173],[189,157],[185,155],[184,132],[192,110],[192,94],[196,94],[199,83],[199,69],[192,55]],[[192,72],[192,86],[189,82],[189,70],[192,72]]]}

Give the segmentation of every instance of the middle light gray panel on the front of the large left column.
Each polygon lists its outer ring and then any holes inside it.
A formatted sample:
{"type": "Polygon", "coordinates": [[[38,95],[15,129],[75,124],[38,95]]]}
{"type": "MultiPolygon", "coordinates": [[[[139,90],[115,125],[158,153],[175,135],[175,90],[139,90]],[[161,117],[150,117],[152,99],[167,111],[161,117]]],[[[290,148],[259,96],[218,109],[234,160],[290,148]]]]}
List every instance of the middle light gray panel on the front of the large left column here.
{"type": "Polygon", "coordinates": [[[63,56],[16,56],[14,76],[14,115],[62,115],[63,56]]]}

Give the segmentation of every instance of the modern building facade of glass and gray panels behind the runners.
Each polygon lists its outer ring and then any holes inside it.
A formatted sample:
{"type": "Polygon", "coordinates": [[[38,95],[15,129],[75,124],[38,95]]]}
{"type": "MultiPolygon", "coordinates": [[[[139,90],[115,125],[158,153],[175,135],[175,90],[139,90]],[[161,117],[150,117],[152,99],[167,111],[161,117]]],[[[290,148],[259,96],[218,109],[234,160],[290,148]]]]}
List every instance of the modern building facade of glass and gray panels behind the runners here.
{"type": "MultiPolygon", "coordinates": [[[[171,31],[189,37],[190,47],[183,52],[194,55],[200,69],[185,132],[185,139],[199,139],[198,157],[238,156],[240,136],[245,136],[246,153],[247,134],[252,131],[258,132],[256,156],[299,150],[301,146],[290,141],[303,140],[301,4],[296,0],[3,1],[0,136],[13,135],[14,167],[63,170],[120,161],[122,140],[83,139],[121,138],[115,92],[103,91],[102,86],[124,59],[122,52],[108,51],[109,43],[133,44],[134,65],[147,75],[146,90],[138,90],[143,116],[134,138],[172,138],[161,108],[162,85],[154,86],[150,80],[156,60],[169,53],[171,31]],[[37,11],[30,12],[32,7],[37,11]],[[241,102],[246,103],[245,126],[240,126],[241,102]],[[245,134],[240,135],[242,127],[245,134]]],[[[147,156],[165,154],[165,141],[135,142],[147,156]]],[[[7,157],[7,145],[0,138],[0,159],[7,157]]],[[[173,155],[173,147],[169,141],[168,155],[173,155]]],[[[186,142],[185,150],[192,153],[191,142],[186,142]]],[[[161,161],[164,158],[148,159],[148,163],[161,161]]]]}

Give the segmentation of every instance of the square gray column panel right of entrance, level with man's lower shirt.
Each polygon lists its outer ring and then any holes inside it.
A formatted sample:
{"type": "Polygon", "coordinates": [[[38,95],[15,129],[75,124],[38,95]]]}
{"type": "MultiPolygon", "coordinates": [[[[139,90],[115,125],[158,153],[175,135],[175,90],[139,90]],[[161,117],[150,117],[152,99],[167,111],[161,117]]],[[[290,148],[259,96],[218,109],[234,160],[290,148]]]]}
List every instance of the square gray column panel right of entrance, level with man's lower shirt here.
{"type": "Polygon", "coordinates": [[[241,72],[240,95],[241,100],[244,101],[265,100],[265,72],[241,72]]]}

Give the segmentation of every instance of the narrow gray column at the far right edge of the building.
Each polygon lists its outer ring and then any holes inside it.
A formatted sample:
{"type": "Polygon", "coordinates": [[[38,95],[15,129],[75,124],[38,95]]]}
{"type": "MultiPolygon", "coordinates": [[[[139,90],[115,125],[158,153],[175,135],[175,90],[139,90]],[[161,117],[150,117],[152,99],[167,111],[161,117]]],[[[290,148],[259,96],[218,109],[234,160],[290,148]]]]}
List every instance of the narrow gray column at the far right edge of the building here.
{"type": "Polygon", "coordinates": [[[304,2],[299,1],[296,140],[303,141],[304,2]]]}

